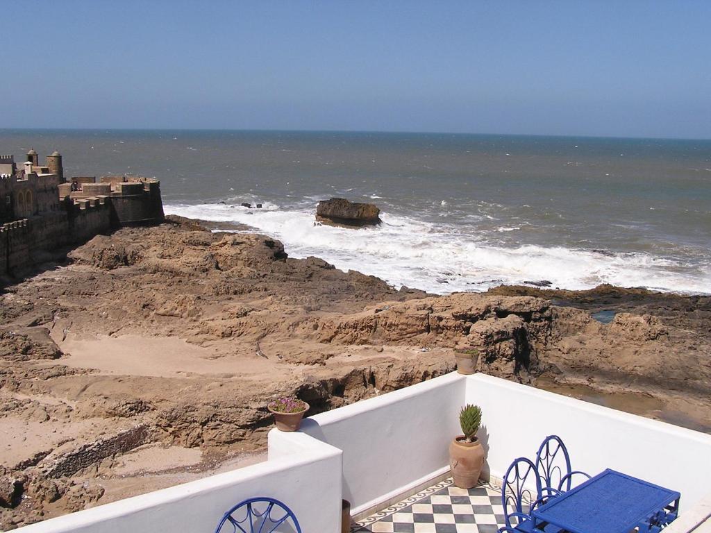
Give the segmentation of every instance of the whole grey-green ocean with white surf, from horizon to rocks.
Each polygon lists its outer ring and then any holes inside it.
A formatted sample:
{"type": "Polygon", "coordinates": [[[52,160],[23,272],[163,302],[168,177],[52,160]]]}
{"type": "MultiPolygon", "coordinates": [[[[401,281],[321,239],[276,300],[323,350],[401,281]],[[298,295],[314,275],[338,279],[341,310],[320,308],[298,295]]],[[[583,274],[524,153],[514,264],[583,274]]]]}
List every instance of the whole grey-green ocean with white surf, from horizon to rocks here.
{"type": "Polygon", "coordinates": [[[711,293],[711,141],[301,131],[0,130],[66,176],[159,178],[166,214],[239,222],[394,286],[711,293]],[[380,227],[314,225],[319,200],[380,227]],[[262,209],[240,206],[262,203],[262,209]]]}

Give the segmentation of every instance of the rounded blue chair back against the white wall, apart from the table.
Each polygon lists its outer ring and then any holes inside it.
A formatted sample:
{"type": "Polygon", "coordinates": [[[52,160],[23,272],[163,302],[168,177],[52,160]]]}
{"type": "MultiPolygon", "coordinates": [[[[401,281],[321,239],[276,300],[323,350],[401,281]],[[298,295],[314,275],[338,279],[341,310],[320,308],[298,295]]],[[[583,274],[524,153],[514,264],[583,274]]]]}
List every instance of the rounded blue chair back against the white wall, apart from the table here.
{"type": "Polygon", "coordinates": [[[240,502],[225,512],[215,529],[215,533],[237,532],[301,533],[301,526],[294,512],[279,500],[255,497],[240,502]]]}

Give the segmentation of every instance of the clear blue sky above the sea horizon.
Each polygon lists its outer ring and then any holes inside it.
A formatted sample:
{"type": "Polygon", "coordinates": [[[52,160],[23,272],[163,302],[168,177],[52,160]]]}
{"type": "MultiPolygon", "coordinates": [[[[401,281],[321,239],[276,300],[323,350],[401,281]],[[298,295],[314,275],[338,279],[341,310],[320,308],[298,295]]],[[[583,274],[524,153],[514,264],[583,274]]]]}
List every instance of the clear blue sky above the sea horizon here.
{"type": "Polygon", "coordinates": [[[711,1],[3,1],[0,127],[711,138],[711,1]]]}

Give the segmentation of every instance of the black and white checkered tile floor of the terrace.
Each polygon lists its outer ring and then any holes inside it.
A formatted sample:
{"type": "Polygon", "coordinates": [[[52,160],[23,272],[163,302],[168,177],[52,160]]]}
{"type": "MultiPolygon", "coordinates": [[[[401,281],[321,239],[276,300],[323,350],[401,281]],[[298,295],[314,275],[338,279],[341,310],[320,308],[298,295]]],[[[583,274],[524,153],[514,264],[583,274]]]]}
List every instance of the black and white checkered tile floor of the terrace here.
{"type": "Polygon", "coordinates": [[[353,524],[353,533],[496,533],[503,524],[501,488],[473,489],[451,478],[353,524]]]}

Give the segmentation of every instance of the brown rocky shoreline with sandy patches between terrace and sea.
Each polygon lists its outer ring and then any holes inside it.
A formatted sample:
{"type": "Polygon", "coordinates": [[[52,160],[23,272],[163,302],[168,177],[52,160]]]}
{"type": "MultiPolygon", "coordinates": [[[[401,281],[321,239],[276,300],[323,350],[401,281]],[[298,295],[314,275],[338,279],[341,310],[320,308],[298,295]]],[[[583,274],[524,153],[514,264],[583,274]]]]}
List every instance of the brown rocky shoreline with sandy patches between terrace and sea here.
{"type": "Polygon", "coordinates": [[[456,349],[479,350],[481,372],[711,431],[711,297],[395,291],[169,217],[0,292],[0,529],[258,460],[269,399],[314,414],[450,372],[456,349]]]}

